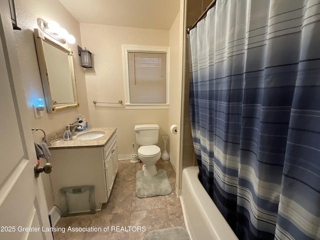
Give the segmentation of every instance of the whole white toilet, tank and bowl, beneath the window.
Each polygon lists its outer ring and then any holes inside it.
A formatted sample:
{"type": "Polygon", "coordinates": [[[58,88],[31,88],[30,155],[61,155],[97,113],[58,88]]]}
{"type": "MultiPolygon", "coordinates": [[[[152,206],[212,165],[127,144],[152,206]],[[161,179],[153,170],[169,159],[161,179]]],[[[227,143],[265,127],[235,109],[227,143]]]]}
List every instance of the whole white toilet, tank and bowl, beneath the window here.
{"type": "Polygon", "coordinates": [[[161,156],[158,143],[158,124],[140,124],[134,126],[136,143],[139,145],[138,158],[143,162],[143,174],[155,176],[157,174],[155,163],[161,156]]]}

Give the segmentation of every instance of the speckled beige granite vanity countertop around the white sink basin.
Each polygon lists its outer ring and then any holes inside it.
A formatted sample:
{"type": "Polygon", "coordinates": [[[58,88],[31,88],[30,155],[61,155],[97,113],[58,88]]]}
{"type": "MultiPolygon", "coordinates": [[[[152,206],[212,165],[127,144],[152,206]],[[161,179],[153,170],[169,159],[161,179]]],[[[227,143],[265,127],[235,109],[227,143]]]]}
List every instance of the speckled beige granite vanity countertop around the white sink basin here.
{"type": "Polygon", "coordinates": [[[112,134],[115,132],[115,127],[94,127],[86,131],[77,132],[71,140],[65,141],[63,138],[57,138],[48,142],[49,149],[62,148],[80,148],[80,147],[101,147],[103,146],[112,134]],[[77,137],[88,132],[103,131],[105,134],[101,137],[89,140],[78,140],[77,137]]]}

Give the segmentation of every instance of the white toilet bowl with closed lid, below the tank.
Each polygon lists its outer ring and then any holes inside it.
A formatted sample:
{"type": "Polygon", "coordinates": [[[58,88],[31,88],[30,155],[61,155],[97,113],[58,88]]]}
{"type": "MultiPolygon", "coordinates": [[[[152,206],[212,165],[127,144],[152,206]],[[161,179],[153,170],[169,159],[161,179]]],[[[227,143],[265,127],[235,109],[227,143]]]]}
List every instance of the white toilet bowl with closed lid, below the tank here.
{"type": "Polygon", "coordinates": [[[155,176],[157,174],[155,163],[161,156],[160,148],[156,145],[140,146],[138,156],[144,164],[143,174],[145,176],[155,176]]]}

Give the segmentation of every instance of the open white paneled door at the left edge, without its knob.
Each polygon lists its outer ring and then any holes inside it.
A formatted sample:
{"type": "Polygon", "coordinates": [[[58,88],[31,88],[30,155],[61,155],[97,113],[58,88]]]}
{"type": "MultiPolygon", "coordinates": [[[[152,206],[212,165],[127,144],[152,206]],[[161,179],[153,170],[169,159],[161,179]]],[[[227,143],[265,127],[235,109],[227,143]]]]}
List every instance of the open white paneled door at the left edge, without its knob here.
{"type": "MultiPolygon", "coordinates": [[[[0,1],[0,239],[52,239],[8,0],[0,1]],[[28,231],[30,230],[30,231],[28,231]]],[[[44,174],[44,173],[41,173],[44,174]]]]}

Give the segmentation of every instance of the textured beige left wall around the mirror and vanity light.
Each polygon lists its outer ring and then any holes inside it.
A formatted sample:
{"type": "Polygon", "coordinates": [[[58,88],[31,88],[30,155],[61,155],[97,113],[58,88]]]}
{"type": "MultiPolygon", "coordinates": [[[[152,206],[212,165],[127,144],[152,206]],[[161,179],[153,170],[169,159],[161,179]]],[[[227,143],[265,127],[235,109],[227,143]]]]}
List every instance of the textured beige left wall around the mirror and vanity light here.
{"type": "MultiPolygon", "coordinates": [[[[61,129],[71,121],[73,122],[79,113],[89,118],[84,70],[79,65],[78,55],[75,54],[73,60],[80,107],[62,110],[54,114],[48,114],[46,111],[43,111],[43,117],[35,119],[32,101],[39,97],[44,98],[33,40],[33,28],[37,28],[36,19],[40,17],[45,20],[55,20],[61,27],[64,27],[69,33],[74,35],[76,38],[75,44],[66,44],[66,47],[72,48],[74,53],[76,53],[76,45],[81,45],[80,28],[77,21],[58,0],[16,0],[15,9],[17,24],[22,28],[22,30],[14,30],[14,36],[29,113],[28,119],[25,120],[30,122],[31,127],[42,128],[48,134],[61,129]]],[[[39,141],[41,137],[42,132],[34,132],[33,138],[35,141],[39,141]]],[[[41,160],[41,165],[44,163],[44,160],[41,160]]],[[[54,170],[54,166],[52,170],[54,170]]],[[[41,177],[48,209],[50,210],[53,207],[50,178],[48,174],[41,174],[41,177]]]]}

